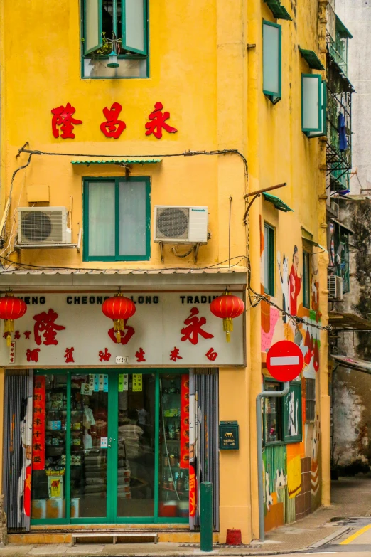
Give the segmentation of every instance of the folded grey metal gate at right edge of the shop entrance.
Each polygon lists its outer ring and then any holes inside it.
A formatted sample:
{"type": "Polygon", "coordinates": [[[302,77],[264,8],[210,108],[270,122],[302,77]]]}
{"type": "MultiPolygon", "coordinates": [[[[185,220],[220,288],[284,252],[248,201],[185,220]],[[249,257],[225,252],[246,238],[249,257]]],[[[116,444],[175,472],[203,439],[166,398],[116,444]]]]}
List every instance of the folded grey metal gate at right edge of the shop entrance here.
{"type": "MultiPolygon", "coordinates": [[[[190,465],[196,477],[196,513],[190,516],[190,529],[200,526],[200,485],[213,484],[213,527],[219,529],[219,376],[213,368],[190,370],[190,465]],[[191,452],[192,455],[192,452],[191,452]]],[[[191,487],[191,486],[190,486],[191,487]]]]}

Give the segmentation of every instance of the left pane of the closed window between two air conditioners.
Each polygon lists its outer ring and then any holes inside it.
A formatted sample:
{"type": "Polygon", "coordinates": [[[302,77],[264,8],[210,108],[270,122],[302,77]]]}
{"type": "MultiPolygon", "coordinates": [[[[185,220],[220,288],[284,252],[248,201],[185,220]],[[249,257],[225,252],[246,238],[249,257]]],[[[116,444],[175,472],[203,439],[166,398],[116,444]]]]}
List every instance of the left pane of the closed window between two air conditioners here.
{"type": "Polygon", "coordinates": [[[114,182],[89,184],[89,255],[114,255],[114,182]]]}

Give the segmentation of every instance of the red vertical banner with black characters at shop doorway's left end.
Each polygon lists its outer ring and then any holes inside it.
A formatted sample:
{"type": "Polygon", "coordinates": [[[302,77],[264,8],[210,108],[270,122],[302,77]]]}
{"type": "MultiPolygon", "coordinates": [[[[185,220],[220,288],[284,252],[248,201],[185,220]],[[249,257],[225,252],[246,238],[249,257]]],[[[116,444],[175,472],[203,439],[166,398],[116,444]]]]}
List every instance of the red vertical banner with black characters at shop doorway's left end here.
{"type": "Polygon", "coordinates": [[[33,380],[32,470],[45,468],[45,376],[33,380]]]}

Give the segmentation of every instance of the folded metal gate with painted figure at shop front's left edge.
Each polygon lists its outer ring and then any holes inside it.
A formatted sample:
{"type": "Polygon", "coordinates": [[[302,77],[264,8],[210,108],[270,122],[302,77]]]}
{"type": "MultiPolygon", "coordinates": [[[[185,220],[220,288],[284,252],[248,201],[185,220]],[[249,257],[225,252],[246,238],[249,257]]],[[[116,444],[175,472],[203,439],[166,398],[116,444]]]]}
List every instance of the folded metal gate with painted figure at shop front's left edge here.
{"type": "Polygon", "coordinates": [[[4,510],[11,531],[29,531],[32,371],[7,371],[4,396],[4,510]]]}

